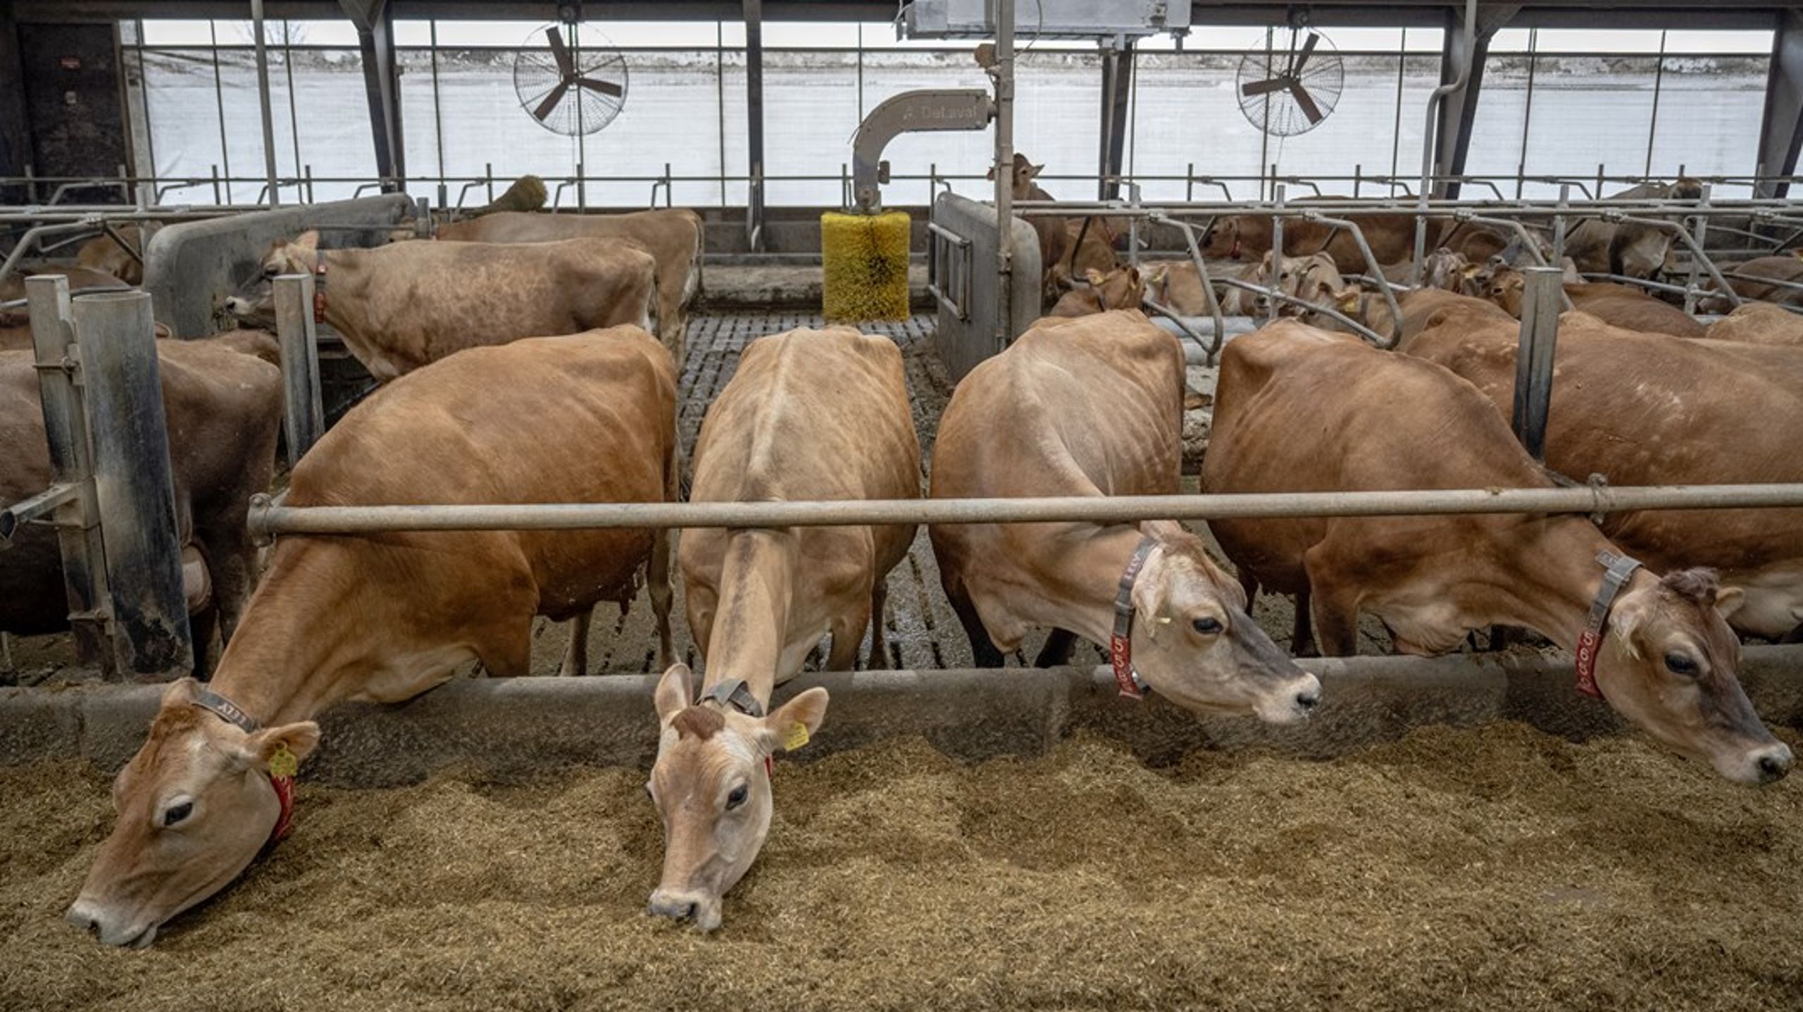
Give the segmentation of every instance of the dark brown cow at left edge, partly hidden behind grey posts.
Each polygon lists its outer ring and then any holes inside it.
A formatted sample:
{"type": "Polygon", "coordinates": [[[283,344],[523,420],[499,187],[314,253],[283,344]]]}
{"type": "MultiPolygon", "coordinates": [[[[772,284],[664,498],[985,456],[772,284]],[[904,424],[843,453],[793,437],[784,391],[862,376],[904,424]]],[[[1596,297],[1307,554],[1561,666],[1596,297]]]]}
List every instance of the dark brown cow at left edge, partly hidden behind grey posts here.
{"type": "MultiPolygon", "coordinates": [[[[251,496],[269,489],[281,428],[281,370],[260,355],[276,357],[276,341],[267,334],[157,341],[197,673],[206,673],[215,624],[220,640],[231,642],[256,583],[256,548],[243,514],[251,496]]],[[[0,352],[0,501],[49,485],[32,354],[0,352]]],[[[0,552],[0,586],[7,588],[0,593],[0,631],[69,628],[54,529],[31,525],[14,536],[0,552]]]]}

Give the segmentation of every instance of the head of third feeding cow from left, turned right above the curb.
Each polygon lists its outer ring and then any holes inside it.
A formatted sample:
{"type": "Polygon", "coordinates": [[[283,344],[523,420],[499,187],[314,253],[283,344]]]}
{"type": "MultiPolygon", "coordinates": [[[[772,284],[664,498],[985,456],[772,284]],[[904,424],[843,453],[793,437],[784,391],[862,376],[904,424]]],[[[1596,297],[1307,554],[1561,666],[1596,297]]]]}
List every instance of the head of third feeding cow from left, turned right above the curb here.
{"type": "Polygon", "coordinates": [[[1132,586],[1132,666],[1161,696],[1195,713],[1291,723],[1322,684],[1246,613],[1246,592],[1176,521],[1141,530],[1158,541],[1132,586]]]}

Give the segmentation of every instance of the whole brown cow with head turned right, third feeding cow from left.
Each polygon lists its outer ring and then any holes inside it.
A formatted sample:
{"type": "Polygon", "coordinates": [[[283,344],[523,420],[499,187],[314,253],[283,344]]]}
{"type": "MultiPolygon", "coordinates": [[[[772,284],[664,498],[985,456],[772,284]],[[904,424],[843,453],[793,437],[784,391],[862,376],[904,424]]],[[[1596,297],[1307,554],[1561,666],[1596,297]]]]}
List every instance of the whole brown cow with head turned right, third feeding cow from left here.
{"type": "MultiPolygon", "coordinates": [[[[1177,339],[1138,310],[1040,319],[959,381],[939,420],[932,494],[1176,494],[1183,373],[1177,339]]],[[[1001,667],[1030,628],[1049,626],[1037,664],[1067,662],[1076,637],[1111,644],[1123,691],[1143,678],[1185,709],[1284,723],[1320,702],[1320,682],[1246,615],[1240,588],[1181,523],[950,523],[929,534],[979,667],[1001,667]]]]}

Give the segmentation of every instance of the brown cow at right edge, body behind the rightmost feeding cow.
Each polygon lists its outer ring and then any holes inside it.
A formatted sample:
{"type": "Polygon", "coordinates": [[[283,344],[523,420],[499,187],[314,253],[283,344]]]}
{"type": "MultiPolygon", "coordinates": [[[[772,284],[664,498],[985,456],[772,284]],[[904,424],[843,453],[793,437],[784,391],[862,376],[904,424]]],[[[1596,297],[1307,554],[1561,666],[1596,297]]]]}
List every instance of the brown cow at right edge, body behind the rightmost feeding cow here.
{"type": "MultiPolygon", "coordinates": [[[[1477,384],[1498,417],[1515,404],[1516,328],[1441,327],[1405,345],[1477,384]]],[[[1677,339],[1560,317],[1547,465],[1614,485],[1803,482],[1803,352],[1677,339]]],[[[1713,566],[1747,633],[1803,622],[1803,511],[1615,512],[1603,532],[1661,570],[1713,566]]]]}

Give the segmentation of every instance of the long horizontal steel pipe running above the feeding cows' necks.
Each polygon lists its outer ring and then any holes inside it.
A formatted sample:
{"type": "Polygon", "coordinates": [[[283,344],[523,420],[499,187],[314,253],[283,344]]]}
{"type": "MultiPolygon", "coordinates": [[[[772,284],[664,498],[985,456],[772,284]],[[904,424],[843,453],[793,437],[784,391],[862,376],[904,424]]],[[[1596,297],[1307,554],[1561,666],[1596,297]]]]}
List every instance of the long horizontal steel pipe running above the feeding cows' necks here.
{"type": "Polygon", "coordinates": [[[251,532],[577,530],[609,527],[856,527],[869,523],[1134,523],[1453,512],[1619,512],[1803,507],[1803,485],[1583,485],[1226,496],[1049,496],[1008,500],[835,500],[763,503],[494,503],[287,507],[251,501],[251,532]]]}

